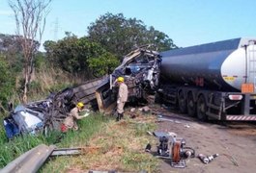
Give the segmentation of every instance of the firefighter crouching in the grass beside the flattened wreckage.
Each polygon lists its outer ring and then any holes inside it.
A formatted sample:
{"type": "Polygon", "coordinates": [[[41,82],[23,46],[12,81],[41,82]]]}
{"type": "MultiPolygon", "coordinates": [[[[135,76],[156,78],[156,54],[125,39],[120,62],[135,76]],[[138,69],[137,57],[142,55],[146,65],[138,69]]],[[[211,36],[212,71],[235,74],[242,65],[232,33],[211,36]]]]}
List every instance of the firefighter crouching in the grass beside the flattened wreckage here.
{"type": "Polygon", "coordinates": [[[89,115],[88,112],[85,113],[84,115],[79,115],[79,112],[83,111],[83,109],[84,109],[84,104],[82,102],[78,102],[76,106],[73,109],[71,109],[69,115],[65,118],[62,124],[62,127],[61,127],[62,132],[67,132],[69,129],[72,129],[74,131],[78,130],[76,120],[82,119],[89,115]]]}

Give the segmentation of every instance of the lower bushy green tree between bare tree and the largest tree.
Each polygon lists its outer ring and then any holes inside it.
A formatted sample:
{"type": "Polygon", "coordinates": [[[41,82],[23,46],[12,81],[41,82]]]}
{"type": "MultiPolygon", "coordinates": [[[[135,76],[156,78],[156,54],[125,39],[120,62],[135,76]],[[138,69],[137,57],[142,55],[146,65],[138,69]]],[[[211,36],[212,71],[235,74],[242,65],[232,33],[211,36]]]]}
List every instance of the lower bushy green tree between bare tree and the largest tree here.
{"type": "Polygon", "coordinates": [[[66,37],[55,41],[43,43],[46,50],[46,58],[52,64],[76,76],[84,76],[87,79],[92,75],[100,75],[112,72],[118,65],[115,56],[103,49],[99,43],[90,41],[88,37],[76,37],[66,33],[66,37]]]}

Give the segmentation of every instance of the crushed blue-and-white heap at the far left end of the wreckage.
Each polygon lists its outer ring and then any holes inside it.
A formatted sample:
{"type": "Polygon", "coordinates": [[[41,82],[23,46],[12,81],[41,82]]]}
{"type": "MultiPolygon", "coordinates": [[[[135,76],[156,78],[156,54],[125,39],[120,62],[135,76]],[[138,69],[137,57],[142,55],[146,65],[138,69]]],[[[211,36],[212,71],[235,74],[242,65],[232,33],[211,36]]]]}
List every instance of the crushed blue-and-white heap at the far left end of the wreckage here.
{"type": "Polygon", "coordinates": [[[72,90],[65,88],[58,93],[51,93],[45,100],[26,105],[10,107],[10,115],[4,118],[4,127],[9,139],[17,135],[35,135],[48,128],[56,128],[58,119],[67,116],[72,107],[72,90]],[[58,104],[58,109],[56,109],[58,104]]]}

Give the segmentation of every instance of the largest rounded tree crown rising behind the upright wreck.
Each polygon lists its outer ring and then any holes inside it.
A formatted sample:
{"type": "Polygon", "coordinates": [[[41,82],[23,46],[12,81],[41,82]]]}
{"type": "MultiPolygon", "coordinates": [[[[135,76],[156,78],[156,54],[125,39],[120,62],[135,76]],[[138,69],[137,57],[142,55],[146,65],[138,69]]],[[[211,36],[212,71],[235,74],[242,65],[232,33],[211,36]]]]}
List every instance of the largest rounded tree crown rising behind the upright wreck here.
{"type": "Polygon", "coordinates": [[[107,51],[122,58],[131,49],[144,44],[154,44],[158,51],[177,48],[167,35],[156,31],[136,18],[126,18],[123,13],[107,12],[88,27],[89,38],[99,42],[107,51]]]}

